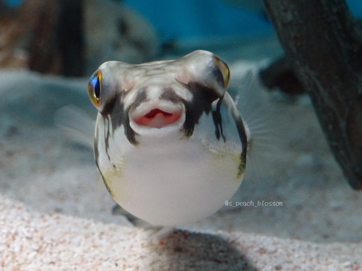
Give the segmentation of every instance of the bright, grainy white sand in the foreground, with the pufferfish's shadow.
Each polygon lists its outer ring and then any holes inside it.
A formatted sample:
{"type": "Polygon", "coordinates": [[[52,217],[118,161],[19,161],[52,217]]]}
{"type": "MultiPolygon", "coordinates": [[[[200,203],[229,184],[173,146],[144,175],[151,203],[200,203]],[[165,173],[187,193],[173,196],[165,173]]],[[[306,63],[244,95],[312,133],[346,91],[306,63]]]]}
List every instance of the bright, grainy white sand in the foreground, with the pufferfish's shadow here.
{"type": "Polygon", "coordinates": [[[46,215],[0,196],[2,270],[357,270],[362,246],[241,232],[152,231],[46,215]]]}

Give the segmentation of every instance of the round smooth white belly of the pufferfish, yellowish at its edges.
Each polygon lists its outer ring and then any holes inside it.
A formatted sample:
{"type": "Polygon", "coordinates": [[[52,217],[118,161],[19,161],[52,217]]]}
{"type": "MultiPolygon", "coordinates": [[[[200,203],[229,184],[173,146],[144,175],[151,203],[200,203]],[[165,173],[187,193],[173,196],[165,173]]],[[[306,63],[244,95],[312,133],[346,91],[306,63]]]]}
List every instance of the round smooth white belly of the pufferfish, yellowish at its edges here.
{"type": "Polygon", "coordinates": [[[205,218],[243,179],[236,177],[240,160],[235,154],[215,154],[187,139],[141,145],[104,177],[119,205],[152,224],[176,226],[205,218]]]}

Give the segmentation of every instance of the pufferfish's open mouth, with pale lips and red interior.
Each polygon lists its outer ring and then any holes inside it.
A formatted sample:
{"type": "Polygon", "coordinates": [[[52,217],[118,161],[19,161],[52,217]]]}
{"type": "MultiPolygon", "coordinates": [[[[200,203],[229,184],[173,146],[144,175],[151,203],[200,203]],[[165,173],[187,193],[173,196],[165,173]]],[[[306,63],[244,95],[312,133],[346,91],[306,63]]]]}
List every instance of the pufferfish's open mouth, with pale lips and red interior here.
{"type": "Polygon", "coordinates": [[[129,117],[131,126],[138,128],[178,127],[185,121],[185,106],[165,100],[145,102],[130,111],[129,117]]]}

